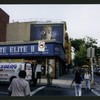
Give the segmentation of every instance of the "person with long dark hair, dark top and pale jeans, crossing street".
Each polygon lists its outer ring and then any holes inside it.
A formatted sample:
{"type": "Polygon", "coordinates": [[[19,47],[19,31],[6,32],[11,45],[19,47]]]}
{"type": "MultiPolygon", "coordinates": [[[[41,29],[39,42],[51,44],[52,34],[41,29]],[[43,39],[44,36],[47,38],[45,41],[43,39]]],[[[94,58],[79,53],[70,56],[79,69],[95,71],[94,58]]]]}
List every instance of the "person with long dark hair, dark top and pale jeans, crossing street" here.
{"type": "Polygon", "coordinates": [[[75,82],[75,96],[81,96],[82,95],[82,85],[81,85],[81,82],[83,81],[79,71],[76,71],[75,72],[75,77],[71,83],[71,86],[72,84],[75,82]]]}

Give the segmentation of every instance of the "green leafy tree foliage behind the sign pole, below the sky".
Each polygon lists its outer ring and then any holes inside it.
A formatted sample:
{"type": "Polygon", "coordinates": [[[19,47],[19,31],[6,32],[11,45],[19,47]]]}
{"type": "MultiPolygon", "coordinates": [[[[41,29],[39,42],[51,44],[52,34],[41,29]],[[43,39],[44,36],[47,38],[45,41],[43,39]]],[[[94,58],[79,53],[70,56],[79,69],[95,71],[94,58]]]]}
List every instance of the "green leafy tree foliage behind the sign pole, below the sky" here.
{"type": "Polygon", "coordinates": [[[87,48],[94,47],[96,54],[100,54],[100,48],[96,46],[97,40],[91,37],[82,38],[82,39],[73,39],[71,38],[71,46],[75,48],[75,58],[74,64],[75,66],[82,66],[86,64],[87,58],[87,48]]]}

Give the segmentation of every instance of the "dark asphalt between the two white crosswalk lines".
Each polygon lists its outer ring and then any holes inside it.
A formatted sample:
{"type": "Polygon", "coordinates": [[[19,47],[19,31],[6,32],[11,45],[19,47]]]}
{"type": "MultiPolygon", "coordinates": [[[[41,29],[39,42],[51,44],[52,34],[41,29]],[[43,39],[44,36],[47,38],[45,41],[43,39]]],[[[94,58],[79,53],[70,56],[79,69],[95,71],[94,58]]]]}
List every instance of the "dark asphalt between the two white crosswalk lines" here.
{"type": "MultiPolygon", "coordinates": [[[[61,88],[56,86],[46,86],[32,96],[75,96],[74,88],[61,88]]],[[[92,91],[82,88],[82,96],[96,96],[92,91]]]]}

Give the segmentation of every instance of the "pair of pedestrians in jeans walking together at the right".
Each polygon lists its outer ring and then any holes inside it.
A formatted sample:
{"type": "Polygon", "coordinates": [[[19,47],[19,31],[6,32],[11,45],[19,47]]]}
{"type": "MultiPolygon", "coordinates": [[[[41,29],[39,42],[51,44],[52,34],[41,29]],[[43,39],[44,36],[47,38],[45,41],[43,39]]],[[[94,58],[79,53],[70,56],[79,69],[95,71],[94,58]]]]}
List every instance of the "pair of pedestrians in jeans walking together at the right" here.
{"type": "Polygon", "coordinates": [[[81,96],[82,95],[82,81],[85,81],[86,83],[86,90],[90,91],[91,90],[91,74],[89,73],[89,71],[86,71],[84,73],[84,76],[81,75],[81,73],[79,72],[79,70],[77,70],[75,72],[75,77],[71,83],[71,86],[73,83],[75,83],[75,96],[81,96]]]}

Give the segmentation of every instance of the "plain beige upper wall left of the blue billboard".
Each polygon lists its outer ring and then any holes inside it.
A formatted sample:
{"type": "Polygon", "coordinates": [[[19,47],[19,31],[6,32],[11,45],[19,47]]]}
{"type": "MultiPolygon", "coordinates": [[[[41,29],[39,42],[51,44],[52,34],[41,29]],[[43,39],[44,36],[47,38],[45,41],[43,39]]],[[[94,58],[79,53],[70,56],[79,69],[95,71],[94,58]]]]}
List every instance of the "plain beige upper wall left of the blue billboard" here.
{"type": "Polygon", "coordinates": [[[7,41],[30,41],[30,24],[33,22],[15,22],[7,24],[7,41]]]}

